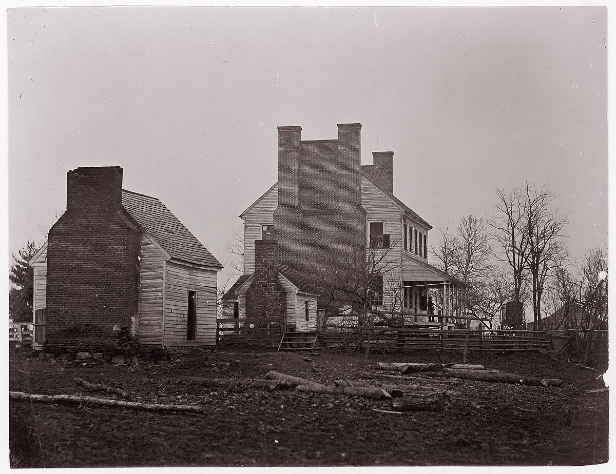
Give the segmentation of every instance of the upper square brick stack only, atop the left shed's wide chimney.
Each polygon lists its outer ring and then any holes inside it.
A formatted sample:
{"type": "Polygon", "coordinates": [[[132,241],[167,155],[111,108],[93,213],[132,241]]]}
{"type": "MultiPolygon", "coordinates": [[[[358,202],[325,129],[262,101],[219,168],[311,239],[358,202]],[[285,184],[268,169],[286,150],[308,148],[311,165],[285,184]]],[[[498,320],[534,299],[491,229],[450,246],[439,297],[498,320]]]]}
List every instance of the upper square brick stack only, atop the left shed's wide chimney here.
{"type": "Polygon", "coordinates": [[[67,212],[98,214],[115,212],[122,207],[120,166],[80,166],[67,173],[67,212]]]}

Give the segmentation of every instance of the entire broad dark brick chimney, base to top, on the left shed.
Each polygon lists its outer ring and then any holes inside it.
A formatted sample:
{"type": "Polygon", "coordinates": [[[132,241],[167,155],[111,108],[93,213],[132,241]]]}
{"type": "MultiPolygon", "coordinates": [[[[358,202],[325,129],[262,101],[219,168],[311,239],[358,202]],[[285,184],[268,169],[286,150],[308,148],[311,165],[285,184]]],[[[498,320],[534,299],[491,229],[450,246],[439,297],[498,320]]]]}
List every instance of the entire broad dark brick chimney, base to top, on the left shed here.
{"type": "MultiPolygon", "coordinates": [[[[121,167],[67,174],[67,212],[47,241],[47,348],[106,348],[139,301],[139,231],[118,217],[121,167]]],[[[126,219],[126,217],[124,217],[126,219]]]]}

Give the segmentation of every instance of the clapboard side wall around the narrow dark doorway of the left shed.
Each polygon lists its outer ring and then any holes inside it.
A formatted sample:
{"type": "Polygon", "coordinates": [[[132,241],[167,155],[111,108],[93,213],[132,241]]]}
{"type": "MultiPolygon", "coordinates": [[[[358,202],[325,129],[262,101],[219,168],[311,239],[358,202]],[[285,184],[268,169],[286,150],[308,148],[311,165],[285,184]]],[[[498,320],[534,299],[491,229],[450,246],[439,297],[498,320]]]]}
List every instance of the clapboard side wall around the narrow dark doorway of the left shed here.
{"type": "Polygon", "coordinates": [[[216,271],[167,262],[164,292],[164,345],[216,343],[216,271]],[[197,334],[187,340],[188,291],[197,291],[197,334]]]}

